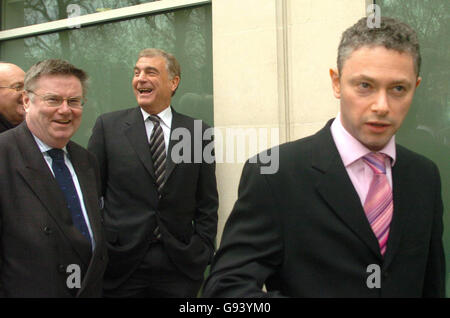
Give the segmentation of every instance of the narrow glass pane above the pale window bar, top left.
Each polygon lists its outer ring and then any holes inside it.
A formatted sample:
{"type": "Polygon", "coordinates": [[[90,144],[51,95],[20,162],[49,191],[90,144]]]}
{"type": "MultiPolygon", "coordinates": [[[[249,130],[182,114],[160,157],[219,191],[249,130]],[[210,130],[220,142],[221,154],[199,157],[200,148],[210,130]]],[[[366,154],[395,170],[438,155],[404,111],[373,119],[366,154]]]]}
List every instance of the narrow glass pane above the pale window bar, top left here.
{"type": "Polygon", "coordinates": [[[161,0],[3,0],[2,30],[161,0]]]}

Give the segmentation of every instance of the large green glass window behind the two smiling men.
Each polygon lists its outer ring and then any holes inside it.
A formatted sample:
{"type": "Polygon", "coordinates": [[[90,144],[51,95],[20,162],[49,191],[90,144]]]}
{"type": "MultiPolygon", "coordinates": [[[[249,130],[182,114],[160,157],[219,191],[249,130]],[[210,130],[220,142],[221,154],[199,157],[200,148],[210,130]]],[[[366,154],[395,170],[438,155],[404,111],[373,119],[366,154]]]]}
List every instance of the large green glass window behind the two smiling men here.
{"type": "MultiPolygon", "coordinates": [[[[106,2],[106,1],[105,1],[106,2]]],[[[47,58],[63,58],[90,75],[87,103],[73,140],[83,146],[96,118],[137,106],[131,80],[137,54],[156,47],[181,65],[173,107],[213,125],[211,5],[69,29],[0,43],[0,59],[27,70],[47,58]]]]}

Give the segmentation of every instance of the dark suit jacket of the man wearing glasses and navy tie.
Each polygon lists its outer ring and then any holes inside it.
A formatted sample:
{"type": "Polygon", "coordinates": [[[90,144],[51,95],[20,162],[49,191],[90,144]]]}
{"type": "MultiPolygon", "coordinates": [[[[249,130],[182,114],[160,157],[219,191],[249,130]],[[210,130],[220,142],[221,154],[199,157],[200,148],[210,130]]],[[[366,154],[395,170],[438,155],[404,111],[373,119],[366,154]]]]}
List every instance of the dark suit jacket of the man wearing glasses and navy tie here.
{"type": "Polygon", "coordinates": [[[63,193],[25,122],[0,135],[0,294],[7,297],[100,297],[107,254],[92,154],[67,144],[92,227],[95,250],[73,225],[63,193]],[[67,266],[79,265],[70,289],[67,266]]]}

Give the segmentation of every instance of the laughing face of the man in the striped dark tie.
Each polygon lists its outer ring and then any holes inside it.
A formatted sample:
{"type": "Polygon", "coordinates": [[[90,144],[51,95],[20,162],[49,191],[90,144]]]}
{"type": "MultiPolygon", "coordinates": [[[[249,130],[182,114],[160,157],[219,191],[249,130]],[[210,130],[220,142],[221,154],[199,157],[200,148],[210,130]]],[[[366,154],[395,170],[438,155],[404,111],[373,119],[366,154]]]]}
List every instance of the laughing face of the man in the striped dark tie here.
{"type": "Polygon", "coordinates": [[[170,105],[180,78],[170,78],[162,56],[141,57],[135,67],[132,86],[137,103],[149,114],[158,114],[170,105]]]}

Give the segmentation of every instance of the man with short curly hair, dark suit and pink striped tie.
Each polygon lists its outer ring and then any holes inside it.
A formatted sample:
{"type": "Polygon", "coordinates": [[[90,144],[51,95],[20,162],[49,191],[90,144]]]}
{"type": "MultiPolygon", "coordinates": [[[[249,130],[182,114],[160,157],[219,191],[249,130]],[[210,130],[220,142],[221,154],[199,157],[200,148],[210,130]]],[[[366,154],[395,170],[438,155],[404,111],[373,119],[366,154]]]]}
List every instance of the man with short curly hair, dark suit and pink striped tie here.
{"type": "Polygon", "coordinates": [[[419,69],[403,23],[344,32],[330,70],[339,115],[281,145],[277,173],[244,166],[204,296],[444,296],[439,172],[394,137],[419,69]]]}

